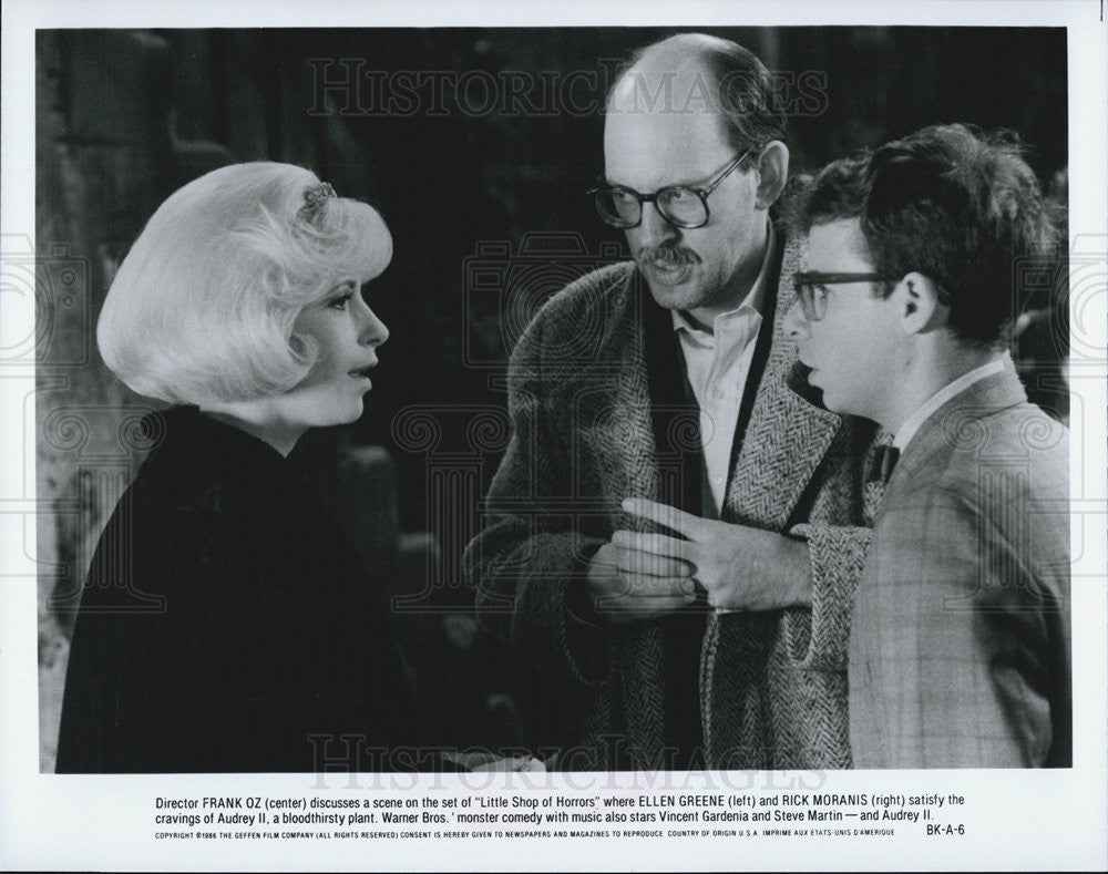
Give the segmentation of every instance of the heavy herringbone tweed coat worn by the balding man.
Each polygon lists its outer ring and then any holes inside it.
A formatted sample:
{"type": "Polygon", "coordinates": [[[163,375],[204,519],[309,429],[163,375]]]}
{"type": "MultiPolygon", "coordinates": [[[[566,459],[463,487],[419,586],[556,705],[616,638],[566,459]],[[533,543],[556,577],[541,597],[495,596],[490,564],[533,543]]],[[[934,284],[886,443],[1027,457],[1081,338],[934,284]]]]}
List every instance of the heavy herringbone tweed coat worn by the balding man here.
{"type": "MultiPolygon", "coordinates": [[[[693,707],[709,767],[845,768],[850,604],[880,497],[861,476],[873,426],[790,388],[804,384],[782,326],[801,247],[790,240],[781,251],[777,306],[763,313],[768,358],[721,518],[806,538],[813,606],[701,608],[699,680],[693,672],[688,682],[699,685],[693,707]]],[[[534,318],[509,370],[513,436],[489,492],[488,523],[465,556],[483,624],[511,642],[523,685],[541,690],[536,706],[562,720],[543,737],[566,768],[661,768],[675,716],[665,712],[675,680],[660,623],[594,628],[572,607],[587,590],[588,559],[614,531],[652,529],[622,512],[623,498],[677,503],[678,452],[659,445],[665,434],[652,421],[650,307],[627,263],[573,282],[534,318]]],[[[663,370],[679,367],[670,352],[663,370]]],[[[668,429],[678,444],[695,430],[695,402],[684,412],[668,429]]]]}

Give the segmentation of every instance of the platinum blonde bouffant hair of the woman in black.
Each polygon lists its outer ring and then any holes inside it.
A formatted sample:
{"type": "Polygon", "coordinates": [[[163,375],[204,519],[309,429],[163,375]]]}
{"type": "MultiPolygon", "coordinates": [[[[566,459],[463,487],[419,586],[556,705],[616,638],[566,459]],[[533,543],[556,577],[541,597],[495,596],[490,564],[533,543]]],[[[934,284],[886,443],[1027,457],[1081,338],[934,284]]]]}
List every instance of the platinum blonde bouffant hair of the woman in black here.
{"type": "Polygon", "coordinates": [[[100,353],[140,394],[203,404],[280,394],[318,350],[294,335],[300,311],[342,278],[367,281],[392,257],[373,207],[309,206],[310,171],[256,162],[175,192],[124,258],[96,326],[100,353]]]}

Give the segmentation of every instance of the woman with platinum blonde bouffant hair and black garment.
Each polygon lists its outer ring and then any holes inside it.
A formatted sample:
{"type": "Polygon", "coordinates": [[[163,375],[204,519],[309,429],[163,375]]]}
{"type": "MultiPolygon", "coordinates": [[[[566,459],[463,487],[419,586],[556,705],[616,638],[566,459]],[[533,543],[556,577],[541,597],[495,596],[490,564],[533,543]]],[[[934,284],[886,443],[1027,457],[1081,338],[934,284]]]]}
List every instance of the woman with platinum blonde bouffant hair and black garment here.
{"type": "Polygon", "coordinates": [[[59,772],[412,767],[383,599],[285,457],[361,414],[389,336],[362,285],[391,254],[373,208],[287,164],[208,173],[150,219],[98,341],[175,405],[92,562],[59,772]]]}

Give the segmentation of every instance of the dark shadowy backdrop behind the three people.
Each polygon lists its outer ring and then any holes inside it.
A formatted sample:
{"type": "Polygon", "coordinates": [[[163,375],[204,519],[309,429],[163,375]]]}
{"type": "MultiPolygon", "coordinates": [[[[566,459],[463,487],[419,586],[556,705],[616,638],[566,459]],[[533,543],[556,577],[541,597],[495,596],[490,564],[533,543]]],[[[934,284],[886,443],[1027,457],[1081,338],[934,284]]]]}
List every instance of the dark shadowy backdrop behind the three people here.
{"type": "MultiPolygon", "coordinates": [[[[459,737],[481,734],[485,723],[466,722],[468,708],[481,700],[488,709],[488,693],[511,686],[511,677],[503,654],[481,641],[465,616],[472,593],[460,585],[458,555],[480,524],[478,502],[506,438],[504,362],[548,295],[622,251],[622,236],[599,222],[584,194],[603,168],[597,107],[619,61],[674,32],[38,33],[38,305],[39,323],[49,327],[38,345],[38,485],[40,500],[57,510],[53,526],[40,525],[39,555],[58,566],[40,586],[44,762],[70,627],[51,597],[83,577],[99,528],[141,456],[119,449],[119,423],[147,403],[95,356],[95,316],[115,265],[156,206],[216,166],[252,160],[310,167],[340,194],[377,205],[392,230],[392,264],[369,298],[392,337],[367,414],[349,429],[309,435],[296,455],[327,491],[338,450],[386,448],[388,457],[370,462],[378,515],[369,522],[408,536],[400,564],[389,567],[398,579],[414,577],[398,589],[433,583],[421,605],[441,619],[437,634],[466,651],[486,647],[463,666],[464,676],[435,680],[464,687],[451,692],[455,710],[465,711],[454,714],[459,737]],[[413,89],[417,75],[424,86],[413,89]],[[514,103],[510,82],[524,83],[514,103]],[[75,297],[59,290],[66,258],[78,265],[75,285],[66,286],[75,297]],[[50,417],[65,409],[84,411],[88,433],[75,448],[52,430],[50,417]],[[434,440],[425,439],[428,429],[434,440]]],[[[958,121],[1018,132],[1044,185],[1065,200],[1064,29],[710,32],[752,50],[798,97],[794,172],[958,121]]],[[[1056,285],[1039,284],[1036,306],[1049,306],[1056,285]]],[[[1037,320],[1017,353],[1035,397],[1064,417],[1054,364],[1065,356],[1064,327],[1037,320]]],[[[423,669],[437,672],[432,662],[423,669]]],[[[443,700],[442,689],[437,695],[443,700]]]]}

